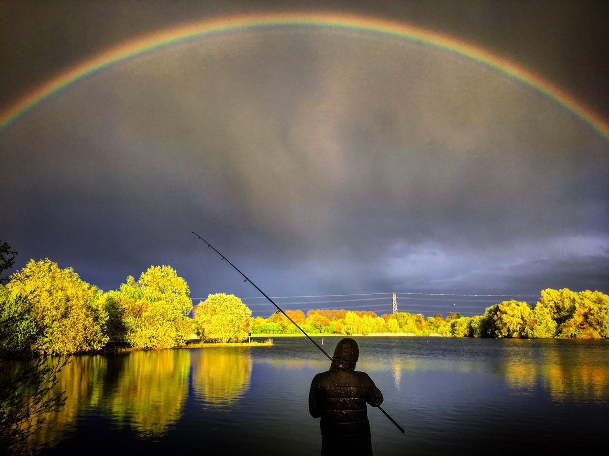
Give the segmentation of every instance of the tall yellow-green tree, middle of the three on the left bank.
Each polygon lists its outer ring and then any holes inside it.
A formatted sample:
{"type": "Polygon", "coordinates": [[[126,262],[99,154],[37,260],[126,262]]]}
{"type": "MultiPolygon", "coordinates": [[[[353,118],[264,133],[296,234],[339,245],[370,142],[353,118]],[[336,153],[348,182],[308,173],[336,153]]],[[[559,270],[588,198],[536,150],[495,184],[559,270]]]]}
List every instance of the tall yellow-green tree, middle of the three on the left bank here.
{"type": "Polygon", "coordinates": [[[191,333],[190,289],[169,266],[151,266],[137,281],[128,276],[118,292],[105,298],[110,333],[133,347],[180,346],[191,333]]]}

